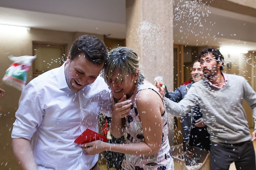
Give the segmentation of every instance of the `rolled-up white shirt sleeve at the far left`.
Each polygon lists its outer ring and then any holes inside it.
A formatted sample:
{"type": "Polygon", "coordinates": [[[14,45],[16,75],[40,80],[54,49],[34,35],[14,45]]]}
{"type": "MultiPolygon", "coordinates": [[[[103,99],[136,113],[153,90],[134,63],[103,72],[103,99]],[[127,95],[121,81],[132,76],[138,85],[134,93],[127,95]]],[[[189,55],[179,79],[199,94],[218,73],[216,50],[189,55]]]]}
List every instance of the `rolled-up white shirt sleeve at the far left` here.
{"type": "Polygon", "coordinates": [[[43,120],[44,111],[40,107],[39,95],[31,83],[27,84],[21,93],[19,107],[15,114],[12,138],[31,140],[36,129],[43,120]]]}

